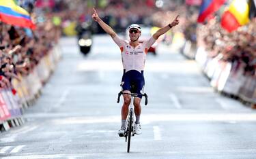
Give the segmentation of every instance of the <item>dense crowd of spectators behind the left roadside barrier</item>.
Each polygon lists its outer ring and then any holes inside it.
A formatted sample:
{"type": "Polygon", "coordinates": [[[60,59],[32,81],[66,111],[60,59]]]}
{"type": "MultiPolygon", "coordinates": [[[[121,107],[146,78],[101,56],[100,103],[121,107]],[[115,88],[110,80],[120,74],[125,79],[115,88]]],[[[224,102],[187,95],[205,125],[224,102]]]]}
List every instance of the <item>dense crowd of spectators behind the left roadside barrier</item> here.
{"type": "Polygon", "coordinates": [[[18,1],[18,5],[29,12],[36,29],[0,22],[0,88],[3,89],[12,89],[12,79],[19,81],[33,71],[58,42],[66,20],[77,20],[78,13],[89,12],[84,1],[79,0],[27,0],[18,1]]]}

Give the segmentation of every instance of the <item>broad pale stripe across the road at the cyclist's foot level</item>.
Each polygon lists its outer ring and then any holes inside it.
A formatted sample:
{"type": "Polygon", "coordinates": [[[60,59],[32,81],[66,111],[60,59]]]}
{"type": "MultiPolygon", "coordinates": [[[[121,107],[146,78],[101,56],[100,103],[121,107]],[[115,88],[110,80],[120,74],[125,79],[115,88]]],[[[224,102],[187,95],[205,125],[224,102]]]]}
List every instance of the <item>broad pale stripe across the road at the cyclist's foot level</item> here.
{"type": "MultiPolygon", "coordinates": [[[[101,117],[76,117],[56,119],[53,122],[59,124],[96,124],[96,123],[119,123],[119,116],[101,117]]],[[[141,122],[256,122],[256,113],[161,113],[144,114],[141,122]]]]}

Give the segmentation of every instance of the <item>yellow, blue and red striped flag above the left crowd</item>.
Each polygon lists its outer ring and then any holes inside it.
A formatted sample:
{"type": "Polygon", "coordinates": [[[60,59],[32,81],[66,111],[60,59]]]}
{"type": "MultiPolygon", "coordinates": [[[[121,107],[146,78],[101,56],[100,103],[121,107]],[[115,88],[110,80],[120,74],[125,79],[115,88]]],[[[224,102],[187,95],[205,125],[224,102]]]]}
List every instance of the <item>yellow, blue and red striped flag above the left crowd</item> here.
{"type": "Polygon", "coordinates": [[[13,0],[0,0],[0,20],[8,24],[35,29],[29,13],[16,5],[13,0]]]}

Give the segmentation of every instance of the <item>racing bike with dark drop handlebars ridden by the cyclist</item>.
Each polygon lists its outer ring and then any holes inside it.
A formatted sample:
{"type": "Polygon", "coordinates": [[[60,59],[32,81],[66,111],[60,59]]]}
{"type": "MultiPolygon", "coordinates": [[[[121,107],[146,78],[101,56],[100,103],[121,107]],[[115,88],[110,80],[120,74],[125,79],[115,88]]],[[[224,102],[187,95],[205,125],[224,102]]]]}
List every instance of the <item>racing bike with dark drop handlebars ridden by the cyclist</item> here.
{"type": "MultiPolygon", "coordinates": [[[[132,86],[132,88],[134,88],[134,86],[132,86]]],[[[128,139],[127,152],[129,153],[130,152],[130,137],[135,135],[135,119],[134,119],[135,115],[134,115],[133,99],[134,99],[134,97],[136,97],[140,94],[133,93],[132,91],[131,91],[131,93],[124,93],[121,91],[118,93],[117,103],[119,103],[120,96],[122,94],[129,94],[132,96],[132,99],[131,99],[131,102],[129,105],[128,116],[126,118],[126,127],[125,127],[125,133],[124,133],[124,137],[126,137],[126,142],[128,139]]],[[[142,96],[145,96],[145,105],[147,105],[147,94],[144,93],[144,94],[142,94],[142,96]]]]}

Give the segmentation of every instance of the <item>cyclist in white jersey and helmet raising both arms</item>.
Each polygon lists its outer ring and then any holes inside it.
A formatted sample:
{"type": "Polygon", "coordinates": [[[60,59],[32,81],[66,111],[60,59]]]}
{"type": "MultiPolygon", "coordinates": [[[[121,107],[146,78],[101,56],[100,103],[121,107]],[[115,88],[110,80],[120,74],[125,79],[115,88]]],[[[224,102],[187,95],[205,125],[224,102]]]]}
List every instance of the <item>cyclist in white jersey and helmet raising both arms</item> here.
{"type": "MultiPolygon", "coordinates": [[[[125,41],[123,39],[120,39],[115,31],[111,27],[109,27],[108,24],[102,21],[101,18],[99,18],[96,10],[94,9],[94,13],[92,14],[91,18],[93,18],[100,27],[106,33],[111,35],[113,41],[119,46],[121,52],[122,52],[122,63],[124,67],[124,74],[122,77],[122,90],[124,93],[130,93],[130,86],[134,85],[136,90],[135,93],[143,94],[143,88],[144,88],[144,77],[143,77],[143,70],[145,65],[145,58],[147,54],[147,50],[149,50],[150,46],[154,44],[156,39],[160,37],[160,35],[165,34],[169,29],[172,27],[175,27],[177,24],[179,24],[178,16],[168,24],[166,27],[160,28],[150,39],[147,41],[144,41],[143,43],[139,43],[139,37],[141,36],[141,27],[139,27],[138,24],[131,24],[130,27],[128,27],[129,31],[129,37],[130,41],[125,41]]],[[[126,123],[126,117],[128,115],[128,107],[130,105],[131,96],[129,94],[123,94],[124,96],[124,104],[122,106],[122,125],[121,129],[118,131],[119,137],[124,137],[125,133],[125,123],[126,123]]],[[[140,125],[140,115],[141,115],[141,97],[142,95],[139,95],[137,97],[134,97],[134,113],[136,116],[135,121],[135,133],[137,135],[141,134],[141,125],[140,125]]]]}

